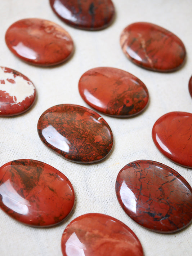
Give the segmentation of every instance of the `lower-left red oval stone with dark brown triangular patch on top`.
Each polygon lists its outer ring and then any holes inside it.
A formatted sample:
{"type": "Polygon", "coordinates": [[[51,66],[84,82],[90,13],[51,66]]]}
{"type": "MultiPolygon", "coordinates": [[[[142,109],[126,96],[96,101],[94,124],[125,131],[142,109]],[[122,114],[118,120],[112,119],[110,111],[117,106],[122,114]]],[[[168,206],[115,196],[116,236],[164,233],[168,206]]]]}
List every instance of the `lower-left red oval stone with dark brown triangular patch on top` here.
{"type": "Polygon", "coordinates": [[[57,169],[37,160],[21,159],[0,168],[0,208],[31,226],[52,226],[73,208],[71,182],[57,169]]]}

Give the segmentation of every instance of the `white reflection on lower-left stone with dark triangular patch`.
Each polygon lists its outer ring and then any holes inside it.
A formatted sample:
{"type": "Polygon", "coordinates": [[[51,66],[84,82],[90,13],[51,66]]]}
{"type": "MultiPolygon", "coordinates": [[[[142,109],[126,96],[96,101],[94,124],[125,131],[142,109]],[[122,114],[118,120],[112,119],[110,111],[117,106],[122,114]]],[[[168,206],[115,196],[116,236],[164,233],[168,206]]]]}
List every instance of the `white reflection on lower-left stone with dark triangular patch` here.
{"type": "Polygon", "coordinates": [[[17,193],[10,183],[10,180],[0,185],[0,195],[6,207],[22,215],[28,214],[28,206],[30,206],[30,203],[17,193]]]}

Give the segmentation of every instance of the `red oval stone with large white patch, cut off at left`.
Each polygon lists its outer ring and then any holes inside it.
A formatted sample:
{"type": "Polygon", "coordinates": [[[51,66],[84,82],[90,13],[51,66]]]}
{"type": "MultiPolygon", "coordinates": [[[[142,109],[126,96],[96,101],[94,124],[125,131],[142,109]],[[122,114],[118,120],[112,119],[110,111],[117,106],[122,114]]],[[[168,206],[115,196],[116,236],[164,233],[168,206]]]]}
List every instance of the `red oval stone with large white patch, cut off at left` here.
{"type": "Polygon", "coordinates": [[[0,116],[27,111],[35,96],[35,86],[26,76],[8,67],[0,67],[0,116]]]}

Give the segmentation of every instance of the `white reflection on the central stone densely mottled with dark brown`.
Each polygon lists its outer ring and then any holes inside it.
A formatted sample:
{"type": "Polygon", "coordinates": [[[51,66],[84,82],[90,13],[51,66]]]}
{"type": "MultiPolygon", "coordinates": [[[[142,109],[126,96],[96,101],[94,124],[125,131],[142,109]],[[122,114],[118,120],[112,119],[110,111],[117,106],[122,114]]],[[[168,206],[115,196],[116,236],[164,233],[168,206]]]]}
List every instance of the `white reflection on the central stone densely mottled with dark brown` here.
{"type": "Polygon", "coordinates": [[[71,145],[70,142],[66,137],[62,136],[52,125],[48,125],[48,127],[44,128],[42,135],[49,144],[57,147],[57,149],[61,149],[64,152],[69,152],[69,146],[71,145]]]}

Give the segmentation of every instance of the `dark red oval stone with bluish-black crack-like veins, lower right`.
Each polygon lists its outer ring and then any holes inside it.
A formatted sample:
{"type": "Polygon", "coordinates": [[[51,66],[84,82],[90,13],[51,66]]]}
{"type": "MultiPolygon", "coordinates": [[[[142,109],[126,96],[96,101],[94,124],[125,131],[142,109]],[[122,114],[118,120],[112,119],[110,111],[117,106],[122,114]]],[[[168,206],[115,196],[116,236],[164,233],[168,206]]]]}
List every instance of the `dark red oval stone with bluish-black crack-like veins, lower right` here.
{"type": "Polygon", "coordinates": [[[152,231],[172,233],[191,223],[191,186],[164,164],[138,160],[125,165],[117,176],[116,195],[124,211],[152,231]]]}

